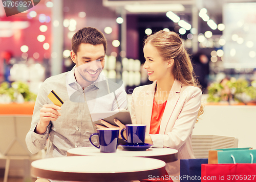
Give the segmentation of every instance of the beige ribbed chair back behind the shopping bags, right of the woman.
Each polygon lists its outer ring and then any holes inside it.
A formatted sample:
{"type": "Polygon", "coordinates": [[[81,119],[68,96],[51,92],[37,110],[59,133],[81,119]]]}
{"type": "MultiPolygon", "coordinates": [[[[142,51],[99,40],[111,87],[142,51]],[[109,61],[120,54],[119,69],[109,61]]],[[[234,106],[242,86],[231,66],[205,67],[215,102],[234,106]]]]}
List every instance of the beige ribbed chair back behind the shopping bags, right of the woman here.
{"type": "Polygon", "coordinates": [[[193,135],[192,148],[196,159],[208,158],[208,150],[237,148],[238,138],[220,135],[193,135]]]}

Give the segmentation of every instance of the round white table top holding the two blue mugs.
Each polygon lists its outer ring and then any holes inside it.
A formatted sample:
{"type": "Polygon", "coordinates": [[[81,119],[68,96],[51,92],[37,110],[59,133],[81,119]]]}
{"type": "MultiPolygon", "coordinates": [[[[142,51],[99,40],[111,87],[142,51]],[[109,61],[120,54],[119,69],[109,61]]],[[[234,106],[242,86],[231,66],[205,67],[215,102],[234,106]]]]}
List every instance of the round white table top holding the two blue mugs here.
{"type": "Polygon", "coordinates": [[[172,148],[150,148],[145,151],[128,151],[118,146],[115,153],[102,153],[96,147],[81,147],[68,150],[68,156],[74,155],[93,155],[93,156],[108,156],[108,157],[145,157],[159,159],[166,163],[178,160],[178,150],[172,148]]]}

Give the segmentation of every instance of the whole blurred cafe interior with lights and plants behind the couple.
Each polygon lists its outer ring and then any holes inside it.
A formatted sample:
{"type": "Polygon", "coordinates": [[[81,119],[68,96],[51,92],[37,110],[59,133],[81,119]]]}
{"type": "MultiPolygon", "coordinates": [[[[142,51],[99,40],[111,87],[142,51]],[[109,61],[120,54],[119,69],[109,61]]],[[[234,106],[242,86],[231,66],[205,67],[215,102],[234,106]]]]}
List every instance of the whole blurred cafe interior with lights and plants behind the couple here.
{"type": "Polygon", "coordinates": [[[195,157],[207,158],[212,143],[256,148],[255,9],[254,0],[40,0],[7,16],[0,5],[0,181],[36,180],[31,162],[47,150],[31,154],[25,143],[36,95],[48,77],[75,66],[71,39],[83,27],[104,34],[103,72],[123,81],[128,98],[152,83],[143,68],[145,37],[178,33],[203,91],[195,157]]]}

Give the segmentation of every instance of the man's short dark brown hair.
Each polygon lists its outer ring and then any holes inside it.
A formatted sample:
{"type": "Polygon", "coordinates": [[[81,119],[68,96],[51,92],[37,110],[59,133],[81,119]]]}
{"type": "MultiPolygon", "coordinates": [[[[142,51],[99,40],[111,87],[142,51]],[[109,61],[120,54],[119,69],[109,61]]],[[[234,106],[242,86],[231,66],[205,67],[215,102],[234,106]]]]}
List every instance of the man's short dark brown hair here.
{"type": "Polygon", "coordinates": [[[89,43],[92,45],[103,44],[106,53],[106,38],[99,30],[92,27],[84,27],[78,30],[72,37],[72,50],[77,54],[81,43],[89,43]]]}

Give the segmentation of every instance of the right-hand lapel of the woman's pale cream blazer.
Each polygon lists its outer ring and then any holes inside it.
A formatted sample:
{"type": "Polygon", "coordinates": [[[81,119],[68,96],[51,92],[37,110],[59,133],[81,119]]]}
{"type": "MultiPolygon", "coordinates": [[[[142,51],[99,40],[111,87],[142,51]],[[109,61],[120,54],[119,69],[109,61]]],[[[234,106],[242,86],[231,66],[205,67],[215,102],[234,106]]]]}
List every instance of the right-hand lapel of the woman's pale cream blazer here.
{"type": "Polygon", "coordinates": [[[174,81],[172,89],[170,89],[170,93],[167,99],[167,103],[164,109],[163,117],[161,120],[160,125],[160,134],[165,133],[166,126],[169,122],[170,116],[172,116],[175,106],[180,98],[180,90],[181,90],[181,83],[177,80],[174,81]]]}

